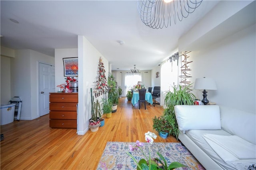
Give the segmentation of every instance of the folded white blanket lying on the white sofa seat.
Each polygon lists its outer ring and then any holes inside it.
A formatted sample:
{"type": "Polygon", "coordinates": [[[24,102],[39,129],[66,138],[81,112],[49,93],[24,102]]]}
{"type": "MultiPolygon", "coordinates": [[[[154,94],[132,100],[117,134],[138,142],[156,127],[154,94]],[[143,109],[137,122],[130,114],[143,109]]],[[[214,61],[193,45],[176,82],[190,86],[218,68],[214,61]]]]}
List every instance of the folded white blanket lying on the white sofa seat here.
{"type": "Polygon", "coordinates": [[[256,158],[256,145],[239,136],[204,134],[203,138],[225,162],[256,158]]]}

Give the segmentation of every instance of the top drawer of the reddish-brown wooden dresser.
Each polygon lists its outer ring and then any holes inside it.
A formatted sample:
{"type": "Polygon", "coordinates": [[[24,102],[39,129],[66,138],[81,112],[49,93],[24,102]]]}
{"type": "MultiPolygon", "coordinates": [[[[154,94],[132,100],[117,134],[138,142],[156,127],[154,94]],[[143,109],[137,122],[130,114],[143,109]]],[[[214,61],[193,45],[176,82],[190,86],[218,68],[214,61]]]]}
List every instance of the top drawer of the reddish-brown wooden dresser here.
{"type": "Polygon", "coordinates": [[[77,93],[50,93],[50,102],[78,103],[77,93]]]}

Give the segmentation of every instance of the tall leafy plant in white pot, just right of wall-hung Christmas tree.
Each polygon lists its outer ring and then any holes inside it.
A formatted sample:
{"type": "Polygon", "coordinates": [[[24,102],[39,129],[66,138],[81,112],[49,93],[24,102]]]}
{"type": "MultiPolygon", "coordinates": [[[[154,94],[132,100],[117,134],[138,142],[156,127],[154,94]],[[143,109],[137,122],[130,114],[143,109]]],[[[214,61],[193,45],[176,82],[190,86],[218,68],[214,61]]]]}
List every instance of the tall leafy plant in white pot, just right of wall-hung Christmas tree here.
{"type": "Polygon", "coordinates": [[[108,76],[108,99],[112,102],[112,113],[115,113],[118,105],[118,89],[112,74],[108,76]]]}

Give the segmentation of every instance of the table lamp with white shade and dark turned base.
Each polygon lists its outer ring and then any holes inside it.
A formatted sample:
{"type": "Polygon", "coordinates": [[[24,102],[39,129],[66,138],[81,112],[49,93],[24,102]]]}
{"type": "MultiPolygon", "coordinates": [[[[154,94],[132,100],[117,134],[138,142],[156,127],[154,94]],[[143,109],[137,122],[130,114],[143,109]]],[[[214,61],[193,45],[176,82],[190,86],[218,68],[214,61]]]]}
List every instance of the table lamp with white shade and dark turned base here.
{"type": "Polygon", "coordinates": [[[203,93],[203,99],[201,100],[204,105],[207,105],[209,103],[207,97],[207,91],[206,90],[217,90],[216,83],[214,79],[212,78],[198,78],[195,81],[194,89],[198,90],[204,90],[203,93]]]}

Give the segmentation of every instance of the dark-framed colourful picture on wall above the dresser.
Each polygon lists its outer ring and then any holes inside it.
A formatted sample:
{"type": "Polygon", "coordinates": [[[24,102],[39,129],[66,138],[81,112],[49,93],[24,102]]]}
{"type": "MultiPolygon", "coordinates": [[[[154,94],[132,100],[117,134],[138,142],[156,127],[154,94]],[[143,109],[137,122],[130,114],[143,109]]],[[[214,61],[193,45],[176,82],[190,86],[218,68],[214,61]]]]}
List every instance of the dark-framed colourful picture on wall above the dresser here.
{"type": "Polygon", "coordinates": [[[78,57],[63,58],[64,76],[78,76],[78,57]]]}

